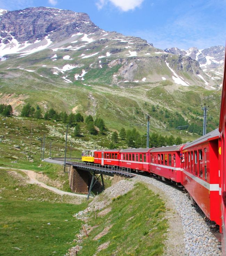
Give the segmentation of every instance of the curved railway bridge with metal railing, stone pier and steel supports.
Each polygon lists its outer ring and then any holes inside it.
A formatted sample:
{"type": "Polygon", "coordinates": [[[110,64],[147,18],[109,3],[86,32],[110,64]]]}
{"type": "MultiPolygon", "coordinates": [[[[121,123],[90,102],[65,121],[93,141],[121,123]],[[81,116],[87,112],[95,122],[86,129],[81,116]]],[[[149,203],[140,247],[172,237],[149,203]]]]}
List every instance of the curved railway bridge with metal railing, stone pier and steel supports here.
{"type": "Polygon", "coordinates": [[[99,185],[104,189],[103,175],[113,176],[115,182],[124,178],[132,178],[136,174],[131,173],[128,167],[102,166],[100,164],[84,163],[81,158],[45,158],[44,161],[64,166],[64,172],[68,173],[69,184],[72,192],[87,194],[89,199],[92,188],[99,185]],[[99,175],[99,176],[98,176],[99,175]],[[101,178],[101,182],[100,182],[101,178]]]}

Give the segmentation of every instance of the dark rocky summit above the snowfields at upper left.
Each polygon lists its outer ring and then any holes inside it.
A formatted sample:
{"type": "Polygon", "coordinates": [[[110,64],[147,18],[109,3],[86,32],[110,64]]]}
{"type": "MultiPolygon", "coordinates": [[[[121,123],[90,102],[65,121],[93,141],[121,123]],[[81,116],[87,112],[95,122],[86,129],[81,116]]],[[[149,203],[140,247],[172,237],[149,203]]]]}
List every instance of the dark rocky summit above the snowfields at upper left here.
{"type": "Polygon", "coordinates": [[[86,13],[75,13],[49,7],[32,7],[12,12],[2,12],[0,20],[1,43],[13,38],[19,43],[33,43],[46,36],[51,41],[69,37],[74,33],[91,33],[99,28],[86,13]]]}

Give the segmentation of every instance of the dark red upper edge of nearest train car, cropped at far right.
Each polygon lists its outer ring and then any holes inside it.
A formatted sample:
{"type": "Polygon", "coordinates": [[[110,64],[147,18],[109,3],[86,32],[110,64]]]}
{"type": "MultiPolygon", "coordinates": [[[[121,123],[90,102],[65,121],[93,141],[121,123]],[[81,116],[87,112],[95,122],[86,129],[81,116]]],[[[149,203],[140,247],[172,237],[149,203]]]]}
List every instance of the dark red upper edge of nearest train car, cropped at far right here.
{"type": "MultiPolygon", "coordinates": [[[[226,51],[225,51],[225,60],[226,60],[226,51]]],[[[220,106],[220,122],[219,122],[219,131],[223,132],[226,121],[226,62],[224,63],[224,78],[222,85],[222,95],[221,95],[221,106],[220,106]]]]}

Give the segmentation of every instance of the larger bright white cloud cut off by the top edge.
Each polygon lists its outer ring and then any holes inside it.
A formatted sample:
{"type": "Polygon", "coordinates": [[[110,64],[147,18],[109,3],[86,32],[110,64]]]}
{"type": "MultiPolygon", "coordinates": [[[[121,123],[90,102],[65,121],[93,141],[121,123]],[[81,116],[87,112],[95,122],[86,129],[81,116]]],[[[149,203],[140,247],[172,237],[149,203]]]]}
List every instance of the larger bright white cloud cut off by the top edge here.
{"type": "Polygon", "coordinates": [[[123,12],[134,10],[139,7],[144,0],[98,0],[96,2],[97,8],[102,9],[107,3],[112,3],[115,7],[118,7],[123,12]]]}

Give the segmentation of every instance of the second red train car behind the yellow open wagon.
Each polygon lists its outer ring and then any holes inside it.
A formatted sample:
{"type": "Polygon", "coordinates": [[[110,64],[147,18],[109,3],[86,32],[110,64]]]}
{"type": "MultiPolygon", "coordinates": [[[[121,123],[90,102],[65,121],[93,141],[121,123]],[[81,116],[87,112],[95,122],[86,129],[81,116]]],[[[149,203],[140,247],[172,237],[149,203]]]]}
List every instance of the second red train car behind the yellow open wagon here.
{"type": "Polygon", "coordinates": [[[146,149],[123,149],[120,151],[120,166],[132,170],[150,172],[150,152],[146,149]]]}

